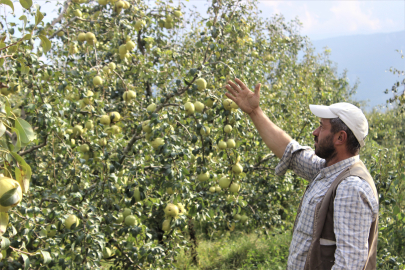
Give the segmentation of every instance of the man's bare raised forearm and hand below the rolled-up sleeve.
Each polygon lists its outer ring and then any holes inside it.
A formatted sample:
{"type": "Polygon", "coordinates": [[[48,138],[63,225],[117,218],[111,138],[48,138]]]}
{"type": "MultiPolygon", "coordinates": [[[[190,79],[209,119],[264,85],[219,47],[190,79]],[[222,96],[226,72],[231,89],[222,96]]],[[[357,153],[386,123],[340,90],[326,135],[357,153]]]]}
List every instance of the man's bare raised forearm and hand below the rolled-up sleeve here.
{"type": "Polygon", "coordinates": [[[235,82],[237,84],[228,81],[228,85],[225,87],[229,93],[226,93],[226,96],[250,116],[267,147],[277,157],[282,158],[285,148],[292,139],[284,130],[274,124],[260,108],[260,83],[256,85],[255,92],[252,92],[241,80],[235,79],[235,82]]]}

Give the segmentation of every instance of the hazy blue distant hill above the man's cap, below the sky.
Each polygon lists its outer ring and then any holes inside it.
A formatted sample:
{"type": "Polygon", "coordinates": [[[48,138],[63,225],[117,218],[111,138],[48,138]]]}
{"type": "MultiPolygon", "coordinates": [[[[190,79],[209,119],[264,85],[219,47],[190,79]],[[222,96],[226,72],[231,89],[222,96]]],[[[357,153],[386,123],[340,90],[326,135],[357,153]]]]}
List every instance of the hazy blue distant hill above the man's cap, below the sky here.
{"type": "Polygon", "coordinates": [[[359,79],[355,100],[367,102],[367,110],[384,105],[391,96],[384,94],[398,79],[389,72],[390,67],[405,70],[405,31],[372,35],[355,35],[313,40],[316,52],[325,47],[332,50],[330,59],[337,64],[339,73],[347,69],[347,77],[353,85],[359,79]]]}

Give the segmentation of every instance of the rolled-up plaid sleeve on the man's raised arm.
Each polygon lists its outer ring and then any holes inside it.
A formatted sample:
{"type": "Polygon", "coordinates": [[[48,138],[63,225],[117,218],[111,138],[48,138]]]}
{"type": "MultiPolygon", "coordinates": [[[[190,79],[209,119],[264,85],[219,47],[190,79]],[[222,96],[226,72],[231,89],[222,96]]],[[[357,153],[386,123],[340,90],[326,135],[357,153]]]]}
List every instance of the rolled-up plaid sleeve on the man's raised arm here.
{"type": "Polygon", "coordinates": [[[324,167],[325,160],[315,155],[314,150],[292,140],[287,145],[275,173],[283,175],[288,169],[292,169],[298,176],[311,181],[324,167]]]}

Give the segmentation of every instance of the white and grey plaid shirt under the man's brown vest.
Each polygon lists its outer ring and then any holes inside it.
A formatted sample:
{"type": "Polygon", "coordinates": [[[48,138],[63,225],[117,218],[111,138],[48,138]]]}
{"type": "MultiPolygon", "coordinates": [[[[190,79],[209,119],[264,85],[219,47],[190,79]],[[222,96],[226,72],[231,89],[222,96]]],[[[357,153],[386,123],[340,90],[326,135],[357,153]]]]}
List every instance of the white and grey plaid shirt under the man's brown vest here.
{"type": "MultiPolygon", "coordinates": [[[[310,147],[301,146],[296,141],[288,144],[276,167],[276,174],[282,175],[287,169],[293,169],[297,175],[310,181],[293,232],[289,270],[304,269],[312,241],[315,207],[336,177],[358,160],[359,156],[354,156],[325,167],[325,160],[316,156],[310,147]]],[[[370,226],[377,215],[378,201],[365,180],[350,176],[341,182],[334,202],[336,252],[332,270],[363,269],[368,255],[370,226]]]]}

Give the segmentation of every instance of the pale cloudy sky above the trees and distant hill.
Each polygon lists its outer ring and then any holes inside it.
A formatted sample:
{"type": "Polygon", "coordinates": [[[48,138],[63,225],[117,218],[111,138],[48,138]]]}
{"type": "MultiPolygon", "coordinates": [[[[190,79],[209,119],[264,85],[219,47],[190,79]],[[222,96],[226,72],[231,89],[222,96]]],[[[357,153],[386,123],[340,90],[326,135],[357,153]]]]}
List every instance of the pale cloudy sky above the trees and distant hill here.
{"type": "MultiPolygon", "coordinates": [[[[21,6],[16,0],[13,2],[17,19],[21,16],[21,6]]],[[[56,16],[57,2],[34,0],[34,3],[41,6],[41,11],[47,13],[45,22],[51,21],[56,16]]],[[[178,0],[174,1],[174,3],[177,2],[178,0]]],[[[208,5],[202,0],[190,0],[184,3],[187,6],[197,6],[199,10],[206,10],[208,5]]],[[[260,1],[259,8],[262,10],[263,17],[271,17],[276,13],[282,14],[287,20],[298,17],[303,23],[301,34],[309,36],[312,40],[405,30],[405,1],[403,0],[267,0],[260,1]]],[[[8,7],[6,9],[10,11],[8,7]]]]}

